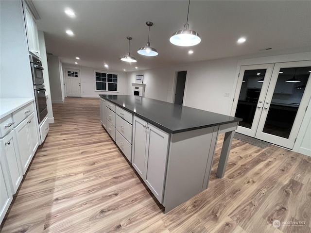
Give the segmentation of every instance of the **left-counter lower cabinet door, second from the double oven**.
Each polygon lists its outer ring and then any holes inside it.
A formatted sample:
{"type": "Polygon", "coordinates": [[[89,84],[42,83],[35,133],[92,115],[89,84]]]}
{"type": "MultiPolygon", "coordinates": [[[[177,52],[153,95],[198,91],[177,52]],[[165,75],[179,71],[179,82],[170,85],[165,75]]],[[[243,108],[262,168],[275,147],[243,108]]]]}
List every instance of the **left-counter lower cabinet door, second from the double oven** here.
{"type": "Polygon", "coordinates": [[[16,136],[17,136],[17,143],[18,143],[21,166],[22,166],[23,175],[24,175],[32,159],[32,152],[31,152],[30,143],[28,139],[28,132],[27,132],[27,119],[22,121],[15,128],[15,131],[16,131],[16,136]]]}

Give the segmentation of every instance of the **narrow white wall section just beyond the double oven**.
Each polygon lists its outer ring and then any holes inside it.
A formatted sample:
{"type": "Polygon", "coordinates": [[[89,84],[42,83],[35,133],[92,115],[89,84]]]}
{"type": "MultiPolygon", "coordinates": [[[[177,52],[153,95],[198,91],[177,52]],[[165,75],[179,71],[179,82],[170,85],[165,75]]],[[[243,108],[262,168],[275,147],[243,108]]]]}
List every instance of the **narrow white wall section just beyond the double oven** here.
{"type": "Polygon", "coordinates": [[[64,96],[62,86],[64,85],[60,76],[60,61],[58,56],[48,54],[49,78],[52,103],[63,103],[64,96]]]}

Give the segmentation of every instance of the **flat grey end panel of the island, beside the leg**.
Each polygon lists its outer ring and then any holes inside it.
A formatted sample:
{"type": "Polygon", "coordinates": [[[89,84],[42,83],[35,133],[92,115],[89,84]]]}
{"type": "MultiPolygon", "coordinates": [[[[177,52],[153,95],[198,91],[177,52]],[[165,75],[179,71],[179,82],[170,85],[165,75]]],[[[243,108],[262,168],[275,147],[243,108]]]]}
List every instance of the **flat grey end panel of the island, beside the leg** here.
{"type": "MultiPolygon", "coordinates": [[[[217,126],[218,129],[218,126],[217,126]]],[[[214,127],[171,134],[163,206],[165,213],[202,191],[214,127]]],[[[214,145],[212,144],[214,141],[214,145]]]]}

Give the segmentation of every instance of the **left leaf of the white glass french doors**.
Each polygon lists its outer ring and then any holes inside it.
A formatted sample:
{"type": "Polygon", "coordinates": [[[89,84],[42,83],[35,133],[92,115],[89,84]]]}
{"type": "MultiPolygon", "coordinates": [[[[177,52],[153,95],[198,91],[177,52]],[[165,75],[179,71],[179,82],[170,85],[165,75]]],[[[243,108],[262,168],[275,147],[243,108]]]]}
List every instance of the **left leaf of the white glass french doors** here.
{"type": "Polygon", "coordinates": [[[241,66],[234,98],[235,116],[243,120],[236,132],[255,137],[274,64],[241,66]]]}

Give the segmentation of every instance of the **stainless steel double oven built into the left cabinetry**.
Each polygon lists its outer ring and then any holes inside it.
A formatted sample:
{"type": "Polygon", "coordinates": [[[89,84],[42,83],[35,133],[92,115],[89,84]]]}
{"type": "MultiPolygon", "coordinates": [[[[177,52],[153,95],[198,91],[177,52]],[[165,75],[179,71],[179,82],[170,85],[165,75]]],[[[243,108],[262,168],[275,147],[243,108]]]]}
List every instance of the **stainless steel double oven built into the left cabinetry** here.
{"type": "Polygon", "coordinates": [[[29,55],[31,71],[33,75],[35,104],[38,113],[38,122],[40,123],[48,114],[47,101],[45,97],[45,88],[43,80],[43,67],[40,59],[34,55],[29,55]]]}

